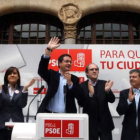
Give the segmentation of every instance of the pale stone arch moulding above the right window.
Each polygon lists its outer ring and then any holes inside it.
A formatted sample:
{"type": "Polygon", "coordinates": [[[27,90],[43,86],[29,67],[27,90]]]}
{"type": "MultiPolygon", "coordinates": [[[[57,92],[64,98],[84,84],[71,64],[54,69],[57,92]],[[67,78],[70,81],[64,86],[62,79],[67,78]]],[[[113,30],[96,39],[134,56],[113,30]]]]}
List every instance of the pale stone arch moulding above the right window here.
{"type": "Polygon", "coordinates": [[[82,9],[82,17],[103,11],[127,11],[140,13],[140,3],[137,0],[88,0],[80,4],[82,9]]]}

